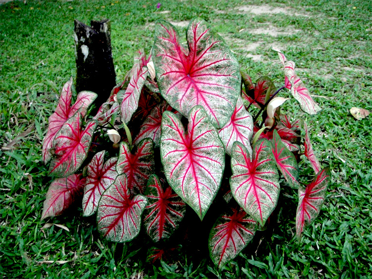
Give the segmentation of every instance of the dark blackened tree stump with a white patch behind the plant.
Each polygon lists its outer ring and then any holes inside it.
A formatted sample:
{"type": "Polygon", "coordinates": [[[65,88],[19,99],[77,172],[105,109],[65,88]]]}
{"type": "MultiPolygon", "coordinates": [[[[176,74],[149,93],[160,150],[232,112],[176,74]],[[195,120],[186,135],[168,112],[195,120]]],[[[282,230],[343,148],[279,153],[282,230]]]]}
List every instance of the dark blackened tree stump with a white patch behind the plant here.
{"type": "Polygon", "coordinates": [[[75,19],[76,91],[98,94],[93,113],[109,98],[116,86],[108,19],[91,21],[91,27],[75,19]]]}

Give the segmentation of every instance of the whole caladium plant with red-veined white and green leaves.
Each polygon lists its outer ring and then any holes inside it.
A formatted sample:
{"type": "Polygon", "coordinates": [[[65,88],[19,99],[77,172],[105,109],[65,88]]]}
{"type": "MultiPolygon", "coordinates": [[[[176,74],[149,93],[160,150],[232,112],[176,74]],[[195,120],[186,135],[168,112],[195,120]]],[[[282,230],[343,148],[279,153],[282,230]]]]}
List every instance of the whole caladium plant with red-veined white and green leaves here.
{"type": "MultiPolygon", "coordinates": [[[[102,237],[130,241],[142,227],[147,241],[161,245],[185,216],[208,216],[214,226],[205,247],[222,268],[267,225],[281,189],[298,189],[298,239],[319,215],[330,172],[316,158],[307,124],[281,114],[290,99],[277,97],[287,88],[305,112],[320,107],[280,50],[284,78],[276,90],[270,78],[253,83],[240,72],[204,20],[190,22],[186,40],[187,47],[172,24],[157,22],[152,52],[135,54],[96,115],[86,115],[96,94],[80,92],[71,106],[67,81],[43,143],[55,179],[41,218],[61,215],[83,196],[83,216],[96,214],[102,237]],[[310,184],[300,176],[301,159],[315,172],[310,184]],[[211,212],[213,204],[225,206],[211,212]]],[[[150,258],[172,249],[155,248],[150,258]]]]}

